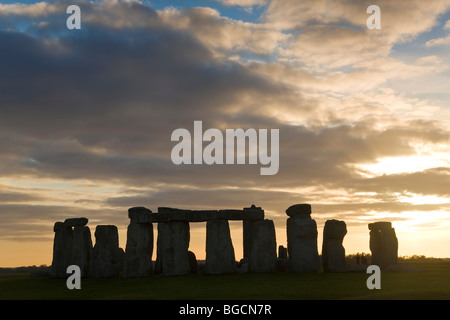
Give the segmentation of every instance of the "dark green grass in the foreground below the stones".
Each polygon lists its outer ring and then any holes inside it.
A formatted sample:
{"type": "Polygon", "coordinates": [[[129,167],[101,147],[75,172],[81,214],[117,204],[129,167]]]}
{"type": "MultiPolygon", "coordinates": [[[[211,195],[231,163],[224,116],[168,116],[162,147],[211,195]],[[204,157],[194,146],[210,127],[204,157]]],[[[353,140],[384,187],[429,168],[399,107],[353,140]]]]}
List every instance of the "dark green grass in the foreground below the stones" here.
{"type": "Polygon", "coordinates": [[[0,274],[0,299],[450,299],[450,263],[417,264],[421,273],[381,274],[381,290],[369,290],[369,274],[233,274],[181,277],[82,279],[69,290],[65,279],[0,274]]]}

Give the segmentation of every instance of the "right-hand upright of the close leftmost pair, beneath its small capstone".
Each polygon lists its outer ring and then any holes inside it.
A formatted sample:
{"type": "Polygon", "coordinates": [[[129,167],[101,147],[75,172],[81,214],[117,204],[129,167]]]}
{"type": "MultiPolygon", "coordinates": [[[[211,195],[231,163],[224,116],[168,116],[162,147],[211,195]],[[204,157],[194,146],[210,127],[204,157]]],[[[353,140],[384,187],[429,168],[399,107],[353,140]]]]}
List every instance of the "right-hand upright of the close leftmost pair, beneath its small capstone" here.
{"type": "Polygon", "coordinates": [[[91,230],[88,226],[75,226],[73,228],[73,245],[71,263],[80,267],[81,276],[89,276],[92,253],[91,230]]]}

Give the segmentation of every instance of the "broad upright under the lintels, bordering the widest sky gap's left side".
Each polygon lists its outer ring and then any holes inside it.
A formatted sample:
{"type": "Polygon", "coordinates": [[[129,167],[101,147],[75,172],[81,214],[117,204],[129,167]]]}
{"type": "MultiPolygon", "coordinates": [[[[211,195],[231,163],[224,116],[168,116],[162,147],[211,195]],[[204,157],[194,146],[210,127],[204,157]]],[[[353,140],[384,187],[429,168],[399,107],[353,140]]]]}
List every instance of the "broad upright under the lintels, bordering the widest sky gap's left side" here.
{"type": "Polygon", "coordinates": [[[189,239],[189,222],[158,223],[156,273],[165,276],[189,274],[189,239]]]}

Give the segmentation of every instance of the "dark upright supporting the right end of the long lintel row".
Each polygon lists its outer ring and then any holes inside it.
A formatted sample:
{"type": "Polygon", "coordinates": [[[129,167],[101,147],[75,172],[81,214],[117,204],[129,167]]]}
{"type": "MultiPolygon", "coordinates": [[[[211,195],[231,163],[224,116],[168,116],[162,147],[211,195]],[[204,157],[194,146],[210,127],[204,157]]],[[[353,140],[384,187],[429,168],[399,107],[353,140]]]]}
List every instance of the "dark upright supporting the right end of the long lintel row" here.
{"type": "Polygon", "coordinates": [[[276,248],[273,221],[268,219],[253,221],[251,223],[249,271],[274,272],[277,262],[276,248]]]}

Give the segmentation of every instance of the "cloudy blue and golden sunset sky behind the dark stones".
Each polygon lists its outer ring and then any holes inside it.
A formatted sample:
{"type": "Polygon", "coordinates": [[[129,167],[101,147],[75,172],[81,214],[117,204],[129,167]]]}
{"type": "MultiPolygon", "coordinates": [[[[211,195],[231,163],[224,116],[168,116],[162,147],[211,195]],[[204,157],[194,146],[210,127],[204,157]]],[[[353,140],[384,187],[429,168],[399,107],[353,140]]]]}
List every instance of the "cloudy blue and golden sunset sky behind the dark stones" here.
{"type": "MultiPolygon", "coordinates": [[[[0,266],[50,265],[70,217],[92,236],[116,225],[125,248],[134,206],[255,204],[286,246],[285,210],[310,203],[319,252],[328,219],[348,254],[391,221],[399,255],[450,257],[449,67],[448,0],[3,0],[0,266]],[[196,120],[278,129],[278,172],[175,165],[171,134],[196,120]]],[[[199,259],[205,228],[191,223],[199,259]]]]}

